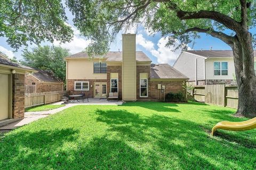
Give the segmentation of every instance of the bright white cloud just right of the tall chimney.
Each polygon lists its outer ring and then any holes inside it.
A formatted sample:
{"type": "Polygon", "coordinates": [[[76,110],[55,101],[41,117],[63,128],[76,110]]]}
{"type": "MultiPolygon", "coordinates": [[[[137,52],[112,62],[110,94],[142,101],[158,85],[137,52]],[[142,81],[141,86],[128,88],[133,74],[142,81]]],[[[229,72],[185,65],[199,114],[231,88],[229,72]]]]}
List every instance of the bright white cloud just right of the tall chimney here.
{"type": "MultiPolygon", "coordinates": [[[[170,64],[172,65],[178,56],[181,53],[181,49],[174,50],[175,47],[166,47],[166,43],[168,42],[167,38],[161,38],[158,40],[157,49],[154,47],[154,43],[150,40],[144,38],[141,34],[137,35],[136,43],[141,45],[146,50],[148,50],[153,56],[157,58],[157,62],[160,64],[170,64]]],[[[179,41],[175,42],[175,45],[178,45],[179,41]]],[[[188,47],[188,49],[191,49],[188,47]]]]}

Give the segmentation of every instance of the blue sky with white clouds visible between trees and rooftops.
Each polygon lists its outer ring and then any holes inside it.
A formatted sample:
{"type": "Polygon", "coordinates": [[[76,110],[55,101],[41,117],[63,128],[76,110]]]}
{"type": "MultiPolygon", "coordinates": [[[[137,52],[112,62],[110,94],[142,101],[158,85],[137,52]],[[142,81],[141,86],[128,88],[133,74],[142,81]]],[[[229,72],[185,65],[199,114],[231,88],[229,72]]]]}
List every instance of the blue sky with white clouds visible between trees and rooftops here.
{"type": "MultiPolygon", "coordinates": [[[[68,24],[73,28],[74,31],[73,40],[71,40],[70,43],[65,44],[59,44],[58,41],[54,41],[53,45],[60,45],[61,47],[68,48],[71,54],[75,54],[84,50],[90,44],[90,40],[86,40],[85,37],[81,36],[79,30],[77,30],[77,28],[74,27],[72,21],[74,16],[71,14],[71,12],[68,11],[68,9],[66,9],[66,15],[68,17],[68,24]]],[[[256,32],[255,29],[253,29],[252,31],[253,33],[256,32]]],[[[118,51],[118,49],[122,51],[122,33],[123,32],[118,33],[115,42],[112,43],[110,46],[110,51],[118,51]]],[[[126,33],[137,33],[137,51],[144,52],[153,61],[152,63],[167,63],[173,65],[173,63],[181,53],[181,50],[176,50],[175,52],[172,52],[173,47],[165,47],[167,39],[161,36],[161,32],[149,33],[147,29],[140,26],[138,29],[131,29],[126,33]]],[[[231,49],[227,44],[223,43],[221,40],[217,38],[207,36],[204,33],[200,33],[199,35],[201,36],[201,38],[195,40],[194,46],[192,44],[189,44],[188,49],[209,50],[211,47],[213,50],[231,49]]],[[[46,41],[41,43],[41,45],[52,44],[46,41]]],[[[30,45],[28,48],[31,49],[33,47],[36,47],[36,45],[30,45]]],[[[17,52],[13,52],[14,49],[6,43],[6,38],[0,37],[0,51],[9,56],[10,58],[15,56],[18,58],[18,60],[21,60],[22,50],[24,48],[25,47],[21,47],[17,52]]]]}

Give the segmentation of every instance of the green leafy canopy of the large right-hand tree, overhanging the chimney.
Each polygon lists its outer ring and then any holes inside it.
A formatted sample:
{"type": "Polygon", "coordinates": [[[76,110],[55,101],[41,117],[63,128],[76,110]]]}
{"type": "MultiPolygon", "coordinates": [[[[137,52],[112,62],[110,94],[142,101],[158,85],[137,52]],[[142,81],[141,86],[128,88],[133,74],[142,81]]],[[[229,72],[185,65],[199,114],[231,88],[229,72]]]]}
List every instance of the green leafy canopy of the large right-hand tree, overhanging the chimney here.
{"type": "MultiPolygon", "coordinates": [[[[176,49],[186,49],[187,44],[195,38],[199,38],[197,31],[186,32],[190,28],[201,28],[223,32],[228,30],[227,24],[202,16],[193,19],[181,19],[177,12],[197,13],[202,10],[214,11],[228,16],[236,22],[241,22],[241,3],[239,0],[166,0],[166,1],[123,1],[123,0],[66,0],[67,6],[73,13],[76,27],[82,35],[93,40],[87,48],[93,53],[107,52],[109,44],[119,31],[125,31],[134,25],[143,25],[152,32],[161,32],[168,37],[167,46],[175,46],[176,49]],[[177,39],[179,45],[177,45],[177,39]]],[[[256,10],[255,1],[247,1],[247,24],[249,28],[255,26],[256,10]]],[[[179,13],[181,14],[181,13],[179,13]]],[[[214,14],[212,14],[214,15],[214,14]]],[[[185,15],[188,16],[188,15],[185,15]]],[[[222,18],[220,16],[220,18],[222,18]]],[[[229,31],[234,35],[234,30],[229,31]]],[[[215,36],[216,37],[216,36],[215,36]]]]}

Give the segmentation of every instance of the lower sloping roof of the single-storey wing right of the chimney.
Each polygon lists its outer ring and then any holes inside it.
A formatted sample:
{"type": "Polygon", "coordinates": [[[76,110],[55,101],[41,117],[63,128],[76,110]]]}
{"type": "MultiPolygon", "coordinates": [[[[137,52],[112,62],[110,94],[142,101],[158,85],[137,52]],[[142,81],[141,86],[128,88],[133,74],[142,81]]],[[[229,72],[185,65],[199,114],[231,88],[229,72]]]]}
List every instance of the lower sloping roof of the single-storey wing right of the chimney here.
{"type": "Polygon", "coordinates": [[[186,75],[174,69],[169,64],[151,64],[151,79],[188,79],[186,75]]]}

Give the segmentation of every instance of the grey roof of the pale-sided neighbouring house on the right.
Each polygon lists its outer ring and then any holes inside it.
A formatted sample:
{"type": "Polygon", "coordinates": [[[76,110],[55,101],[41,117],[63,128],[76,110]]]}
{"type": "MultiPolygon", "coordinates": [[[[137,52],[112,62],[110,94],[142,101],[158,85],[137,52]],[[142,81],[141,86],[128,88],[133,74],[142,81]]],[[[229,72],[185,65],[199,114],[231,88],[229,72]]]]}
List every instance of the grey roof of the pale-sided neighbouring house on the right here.
{"type": "MultiPolygon", "coordinates": [[[[206,58],[233,57],[232,50],[184,50],[184,52],[199,55],[206,58]]],[[[256,51],[254,50],[253,53],[255,57],[256,51]]]]}

